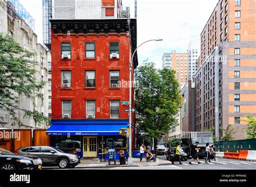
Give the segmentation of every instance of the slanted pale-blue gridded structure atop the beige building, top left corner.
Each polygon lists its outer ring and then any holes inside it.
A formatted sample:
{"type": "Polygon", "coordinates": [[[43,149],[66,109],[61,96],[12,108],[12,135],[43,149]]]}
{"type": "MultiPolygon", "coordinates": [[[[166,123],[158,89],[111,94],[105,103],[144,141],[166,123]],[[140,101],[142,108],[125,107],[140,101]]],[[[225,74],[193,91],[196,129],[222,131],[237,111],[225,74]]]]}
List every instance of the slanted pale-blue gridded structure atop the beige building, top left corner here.
{"type": "Polygon", "coordinates": [[[32,18],[30,13],[26,11],[21,3],[18,0],[8,0],[9,3],[15,8],[15,11],[19,17],[21,17],[26,24],[35,32],[35,19],[32,18]]]}

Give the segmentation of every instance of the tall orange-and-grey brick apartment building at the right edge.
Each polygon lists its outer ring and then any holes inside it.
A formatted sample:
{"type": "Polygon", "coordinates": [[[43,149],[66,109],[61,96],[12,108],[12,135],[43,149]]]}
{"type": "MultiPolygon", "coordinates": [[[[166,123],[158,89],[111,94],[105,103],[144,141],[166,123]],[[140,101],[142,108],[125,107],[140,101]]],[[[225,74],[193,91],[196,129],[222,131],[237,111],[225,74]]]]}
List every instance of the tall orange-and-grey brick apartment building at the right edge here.
{"type": "Polygon", "coordinates": [[[196,131],[231,124],[242,139],[256,116],[256,1],[220,0],[201,32],[196,83],[196,131]]]}

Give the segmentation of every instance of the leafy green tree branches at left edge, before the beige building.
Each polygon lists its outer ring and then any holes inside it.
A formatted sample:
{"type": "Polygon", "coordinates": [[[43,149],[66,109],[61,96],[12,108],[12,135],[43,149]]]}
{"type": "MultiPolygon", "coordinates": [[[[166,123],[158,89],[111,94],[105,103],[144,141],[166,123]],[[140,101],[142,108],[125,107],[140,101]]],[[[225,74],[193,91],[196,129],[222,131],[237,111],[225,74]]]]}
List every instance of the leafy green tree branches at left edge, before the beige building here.
{"type": "Polygon", "coordinates": [[[10,114],[12,125],[24,125],[17,117],[19,110],[24,112],[24,118],[35,119],[36,124],[49,123],[40,112],[19,106],[19,96],[30,98],[33,104],[36,97],[43,99],[40,91],[45,82],[36,82],[37,62],[32,57],[33,53],[15,42],[11,35],[0,33],[0,110],[10,114]]]}

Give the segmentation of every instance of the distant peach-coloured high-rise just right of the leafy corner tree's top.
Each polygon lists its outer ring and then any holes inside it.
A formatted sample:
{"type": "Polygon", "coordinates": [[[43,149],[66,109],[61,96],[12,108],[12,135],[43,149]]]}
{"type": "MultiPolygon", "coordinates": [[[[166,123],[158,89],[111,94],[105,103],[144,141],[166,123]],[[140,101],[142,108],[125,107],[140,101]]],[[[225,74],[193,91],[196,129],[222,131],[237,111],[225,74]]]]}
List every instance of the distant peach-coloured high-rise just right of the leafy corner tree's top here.
{"type": "Polygon", "coordinates": [[[169,68],[176,71],[176,78],[180,85],[188,80],[188,53],[164,53],[163,68],[169,68]]]}

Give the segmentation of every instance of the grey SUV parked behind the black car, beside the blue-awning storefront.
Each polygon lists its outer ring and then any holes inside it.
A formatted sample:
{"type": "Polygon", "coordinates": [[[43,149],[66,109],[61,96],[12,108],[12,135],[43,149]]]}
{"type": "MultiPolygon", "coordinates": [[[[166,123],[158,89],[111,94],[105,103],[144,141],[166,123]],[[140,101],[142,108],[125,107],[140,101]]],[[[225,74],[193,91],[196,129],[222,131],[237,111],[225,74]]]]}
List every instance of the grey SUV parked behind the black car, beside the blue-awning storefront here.
{"type": "Polygon", "coordinates": [[[16,150],[17,154],[35,155],[42,159],[43,166],[58,166],[59,168],[75,168],[80,163],[80,157],[75,154],[64,153],[55,147],[33,146],[16,150]]]}

